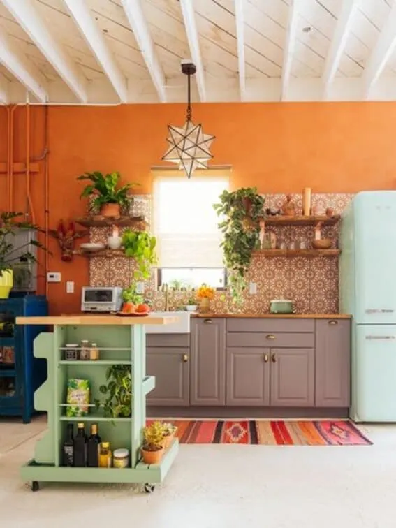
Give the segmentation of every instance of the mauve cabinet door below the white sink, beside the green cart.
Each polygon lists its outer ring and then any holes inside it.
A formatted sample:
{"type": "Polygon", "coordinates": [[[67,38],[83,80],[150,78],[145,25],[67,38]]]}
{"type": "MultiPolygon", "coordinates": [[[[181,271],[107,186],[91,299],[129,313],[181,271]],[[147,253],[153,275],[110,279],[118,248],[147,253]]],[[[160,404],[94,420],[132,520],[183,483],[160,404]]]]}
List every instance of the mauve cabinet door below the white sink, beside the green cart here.
{"type": "Polygon", "coordinates": [[[149,334],[146,339],[146,373],[155,376],[147,405],[189,406],[190,335],[149,334]]]}

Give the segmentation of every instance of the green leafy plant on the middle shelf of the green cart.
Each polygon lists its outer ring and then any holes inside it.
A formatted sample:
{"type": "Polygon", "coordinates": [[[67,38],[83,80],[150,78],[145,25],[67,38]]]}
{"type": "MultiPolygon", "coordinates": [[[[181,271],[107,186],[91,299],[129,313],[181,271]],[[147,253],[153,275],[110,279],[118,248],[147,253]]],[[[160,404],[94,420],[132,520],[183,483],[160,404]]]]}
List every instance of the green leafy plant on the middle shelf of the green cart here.
{"type": "Polygon", "coordinates": [[[99,387],[105,399],[103,402],[96,399],[96,408],[103,407],[105,418],[129,418],[132,412],[131,365],[112,365],[106,371],[106,381],[99,387]]]}

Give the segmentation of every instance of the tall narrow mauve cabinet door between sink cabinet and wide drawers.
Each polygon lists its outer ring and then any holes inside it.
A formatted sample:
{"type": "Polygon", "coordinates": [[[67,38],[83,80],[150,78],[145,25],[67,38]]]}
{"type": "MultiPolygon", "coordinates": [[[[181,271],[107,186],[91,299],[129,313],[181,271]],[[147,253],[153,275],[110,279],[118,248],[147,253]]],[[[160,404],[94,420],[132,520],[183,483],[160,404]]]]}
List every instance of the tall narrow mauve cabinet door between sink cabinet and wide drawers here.
{"type": "Polygon", "coordinates": [[[226,404],[226,319],[191,320],[190,405],[226,404]]]}

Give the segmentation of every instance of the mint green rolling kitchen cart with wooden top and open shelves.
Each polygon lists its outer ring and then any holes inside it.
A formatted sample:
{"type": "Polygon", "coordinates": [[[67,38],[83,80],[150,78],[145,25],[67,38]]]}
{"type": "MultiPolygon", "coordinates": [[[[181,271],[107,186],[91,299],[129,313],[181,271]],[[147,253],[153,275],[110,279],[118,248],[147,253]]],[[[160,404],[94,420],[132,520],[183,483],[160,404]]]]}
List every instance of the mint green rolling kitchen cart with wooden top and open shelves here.
{"type": "Polygon", "coordinates": [[[175,460],[179,448],[175,439],[159,464],[142,462],[140,448],[146,422],[146,395],[155,387],[154,376],[146,376],[145,325],[175,323],[177,317],[142,318],[112,315],[19,317],[17,324],[53,326],[34,341],[34,356],[47,360],[47,380],[34,394],[37,411],[47,411],[48,428],[37,441],[34,459],[24,464],[21,476],[37,491],[41,482],[141,483],[152,492],[161,483],[175,460]],[[66,344],[82,339],[95,342],[98,360],[66,360],[66,344]],[[112,365],[131,365],[132,404],[129,418],[107,418],[103,409],[96,410],[95,399],[103,400],[99,387],[106,383],[106,372],[112,365]],[[66,393],[69,379],[87,379],[91,385],[89,413],[84,417],[66,416],[66,393]],[[103,441],[110,448],[129,449],[129,468],[63,467],[62,446],[68,423],[97,423],[103,441]]]}

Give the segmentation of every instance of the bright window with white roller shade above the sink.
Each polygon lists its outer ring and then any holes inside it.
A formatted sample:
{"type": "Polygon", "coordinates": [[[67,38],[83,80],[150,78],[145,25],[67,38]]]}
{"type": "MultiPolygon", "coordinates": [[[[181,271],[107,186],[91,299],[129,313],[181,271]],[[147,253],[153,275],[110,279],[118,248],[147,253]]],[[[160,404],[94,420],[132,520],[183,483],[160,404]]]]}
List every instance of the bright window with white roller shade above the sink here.
{"type": "Polygon", "coordinates": [[[213,205],[228,187],[228,174],[218,170],[191,179],[165,171],[154,175],[159,286],[226,286],[219,217],[213,205]]]}

